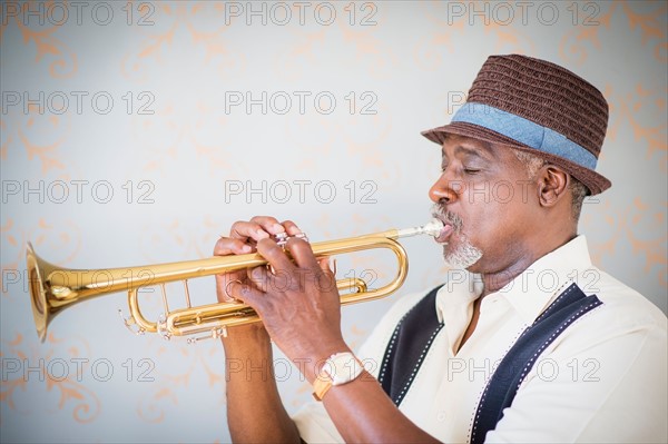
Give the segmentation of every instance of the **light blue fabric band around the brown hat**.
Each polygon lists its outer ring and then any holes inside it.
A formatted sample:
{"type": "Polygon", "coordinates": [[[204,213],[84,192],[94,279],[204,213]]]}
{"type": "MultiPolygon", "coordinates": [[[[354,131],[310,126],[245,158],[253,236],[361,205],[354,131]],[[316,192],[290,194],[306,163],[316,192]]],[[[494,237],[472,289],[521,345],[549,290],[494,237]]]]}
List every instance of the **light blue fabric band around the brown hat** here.
{"type": "Polygon", "coordinates": [[[538,125],[523,117],[483,103],[466,102],[451,122],[478,125],[539,151],[559,156],[584,168],[596,169],[597,158],[589,150],[566,138],[553,129],[538,125]]]}

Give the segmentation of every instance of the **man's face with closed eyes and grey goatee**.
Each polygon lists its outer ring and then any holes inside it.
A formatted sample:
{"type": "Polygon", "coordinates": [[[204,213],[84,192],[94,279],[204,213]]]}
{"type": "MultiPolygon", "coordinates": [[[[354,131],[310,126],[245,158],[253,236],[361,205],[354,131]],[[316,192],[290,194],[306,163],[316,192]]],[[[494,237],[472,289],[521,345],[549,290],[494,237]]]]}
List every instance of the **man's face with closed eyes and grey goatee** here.
{"type": "Polygon", "coordinates": [[[509,147],[448,135],[441,169],[429,194],[434,216],[446,225],[438,239],[445,262],[474,273],[512,267],[539,215],[524,165],[509,147]]]}

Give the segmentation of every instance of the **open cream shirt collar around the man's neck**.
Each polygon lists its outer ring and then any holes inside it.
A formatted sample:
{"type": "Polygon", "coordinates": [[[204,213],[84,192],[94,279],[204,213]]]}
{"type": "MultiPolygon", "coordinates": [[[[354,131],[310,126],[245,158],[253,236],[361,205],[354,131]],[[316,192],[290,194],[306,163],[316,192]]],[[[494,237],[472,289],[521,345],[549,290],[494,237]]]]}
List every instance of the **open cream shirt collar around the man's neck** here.
{"type": "MultiPolygon", "coordinates": [[[[499,292],[488,295],[482,304],[484,306],[487,300],[503,297],[527,324],[533,324],[568,284],[591,267],[587,239],[578,236],[536,260],[499,292]]],[[[439,320],[455,329],[461,327],[461,323],[468,325],[471,303],[482,294],[482,289],[480,275],[464,270],[448,272],[446,283],[436,295],[439,320]]]]}

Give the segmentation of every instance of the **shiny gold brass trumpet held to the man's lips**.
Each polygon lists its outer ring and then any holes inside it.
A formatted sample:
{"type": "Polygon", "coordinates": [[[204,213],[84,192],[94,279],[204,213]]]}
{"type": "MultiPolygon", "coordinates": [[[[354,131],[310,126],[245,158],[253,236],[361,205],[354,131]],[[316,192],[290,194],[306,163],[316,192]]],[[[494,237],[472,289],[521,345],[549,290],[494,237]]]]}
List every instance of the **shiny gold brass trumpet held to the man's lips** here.
{"type": "MultiPolygon", "coordinates": [[[[312,248],[318,258],[374,248],[386,248],[394,253],[399,262],[396,276],[381,288],[369,289],[366,282],[356,277],[336,280],[338,290],[350,292],[341,296],[341,304],[354,304],[387,296],[403,285],[409,272],[409,262],[404,248],[396,239],[424,234],[436,237],[442,228],[443,224],[433,219],[419,227],[390,229],[371,235],[323,241],[313,244],[312,248]]],[[[124,322],[130,329],[136,327],[135,333],[137,334],[159,333],[169,339],[171,336],[206,333],[204,336],[188,338],[188,342],[226,336],[228,326],[257,322],[259,320],[258,315],[242,303],[218,303],[193,307],[187,279],[267,265],[267,260],[261,255],[247,254],[130,268],[66,269],[37,256],[30,243],[26,247],[26,262],[32,315],[37,334],[41,341],[47,336],[50,320],[63,308],[95,296],[119,290],[128,292],[130,317],[124,322]],[[169,310],[165,284],[176,280],[184,282],[187,306],[169,310]],[[153,285],[160,285],[163,289],[165,314],[157,322],[146,319],[139,308],[139,288],[153,285]]]]}

